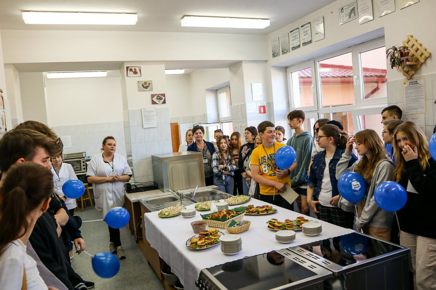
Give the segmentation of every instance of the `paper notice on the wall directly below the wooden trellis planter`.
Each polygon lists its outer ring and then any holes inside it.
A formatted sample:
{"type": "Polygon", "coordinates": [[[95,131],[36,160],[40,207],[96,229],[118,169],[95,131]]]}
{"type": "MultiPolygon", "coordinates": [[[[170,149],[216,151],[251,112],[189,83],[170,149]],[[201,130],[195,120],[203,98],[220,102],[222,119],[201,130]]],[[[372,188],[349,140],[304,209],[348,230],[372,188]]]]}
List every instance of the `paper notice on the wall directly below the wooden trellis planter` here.
{"type": "Polygon", "coordinates": [[[425,113],[424,79],[403,82],[403,94],[406,114],[425,113]]]}

